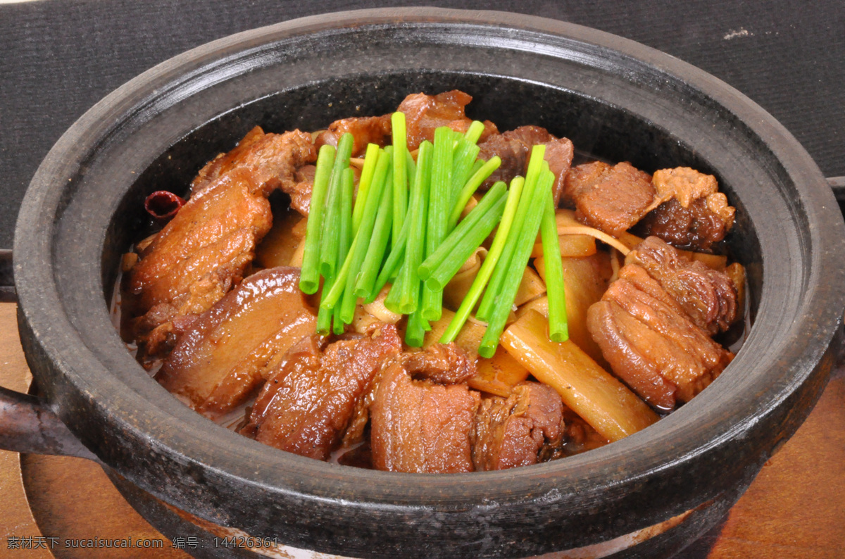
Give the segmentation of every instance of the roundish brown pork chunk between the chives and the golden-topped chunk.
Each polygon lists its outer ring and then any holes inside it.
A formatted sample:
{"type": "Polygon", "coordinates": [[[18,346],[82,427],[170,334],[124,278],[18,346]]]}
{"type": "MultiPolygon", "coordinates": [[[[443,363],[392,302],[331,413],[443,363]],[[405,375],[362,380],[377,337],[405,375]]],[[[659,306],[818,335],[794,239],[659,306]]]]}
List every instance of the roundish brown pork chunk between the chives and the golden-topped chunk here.
{"type": "Polygon", "coordinates": [[[585,163],[572,167],[564,180],[564,204],[575,208],[575,218],[613,236],[641,220],[654,197],[651,176],[626,162],[585,163]]]}

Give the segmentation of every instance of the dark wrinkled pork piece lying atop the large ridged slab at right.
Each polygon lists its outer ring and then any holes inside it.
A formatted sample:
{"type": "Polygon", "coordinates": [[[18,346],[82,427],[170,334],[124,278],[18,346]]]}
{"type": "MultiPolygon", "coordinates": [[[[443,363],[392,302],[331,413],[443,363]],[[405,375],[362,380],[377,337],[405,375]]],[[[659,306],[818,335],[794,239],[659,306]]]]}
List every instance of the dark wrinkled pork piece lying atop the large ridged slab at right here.
{"type": "Polygon", "coordinates": [[[634,247],[625,263],[646,269],[707,334],[724,332],[736,321],[737,289],[728,274],[690,261],[656,236],[634,247]]]}

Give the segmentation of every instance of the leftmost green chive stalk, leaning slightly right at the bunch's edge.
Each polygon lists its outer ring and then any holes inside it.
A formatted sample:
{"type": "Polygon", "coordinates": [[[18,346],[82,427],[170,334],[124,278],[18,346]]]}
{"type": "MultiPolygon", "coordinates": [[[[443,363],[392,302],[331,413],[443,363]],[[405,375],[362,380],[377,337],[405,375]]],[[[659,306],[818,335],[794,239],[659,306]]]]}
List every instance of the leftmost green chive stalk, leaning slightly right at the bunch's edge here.
{"type": "Polygon", "coordinates": [[[334,146],[324,145],[319,149],[317,170],[311,188],[311,209],[305,229],[303,268],[299,275],[299,289],[311,295],[319,289],[319,250],[322,236],[325,198],[329,190],[331,169],[335,164],[334,146]]]}

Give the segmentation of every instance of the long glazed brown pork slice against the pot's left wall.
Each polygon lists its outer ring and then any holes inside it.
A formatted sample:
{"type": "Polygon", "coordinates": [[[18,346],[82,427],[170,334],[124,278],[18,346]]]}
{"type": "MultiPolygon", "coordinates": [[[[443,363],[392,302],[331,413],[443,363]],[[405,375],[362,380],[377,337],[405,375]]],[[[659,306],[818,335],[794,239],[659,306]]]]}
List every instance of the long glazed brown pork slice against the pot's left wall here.
{"type": "Polygon", "coordinates": [[[222,176],[176,214],[128,274],[126,310],[147,355],[177,341],[176,317],[207,311],[243,277],[255,245],[270,231],[270,203],[248,171],[222,176]]]}

